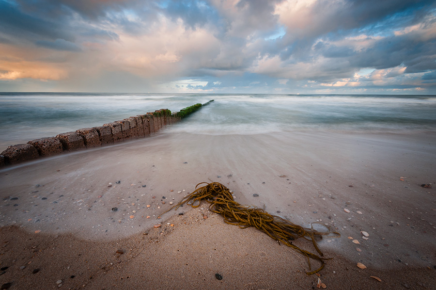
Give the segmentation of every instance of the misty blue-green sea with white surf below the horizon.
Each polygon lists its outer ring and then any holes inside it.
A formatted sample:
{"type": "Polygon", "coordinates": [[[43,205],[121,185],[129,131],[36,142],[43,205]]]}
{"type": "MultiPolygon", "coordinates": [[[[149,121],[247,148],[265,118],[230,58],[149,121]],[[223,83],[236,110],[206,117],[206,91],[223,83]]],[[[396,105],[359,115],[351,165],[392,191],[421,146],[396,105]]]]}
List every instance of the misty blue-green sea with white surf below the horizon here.
{"type": "Polygon", "coordinates": [[[436,132],[436,96],[0,93],[0,151],[137,114],[215,101],[167,132],[436,132]]]}

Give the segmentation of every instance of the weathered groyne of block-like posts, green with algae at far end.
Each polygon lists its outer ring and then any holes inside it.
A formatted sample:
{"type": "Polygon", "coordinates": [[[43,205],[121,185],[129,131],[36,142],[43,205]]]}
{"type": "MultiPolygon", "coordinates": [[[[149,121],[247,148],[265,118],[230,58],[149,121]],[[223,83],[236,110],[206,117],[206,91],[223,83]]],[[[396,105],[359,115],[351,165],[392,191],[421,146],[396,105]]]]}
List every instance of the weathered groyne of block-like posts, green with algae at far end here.
{"type": "Polygon", "coordinates": [[[0,167],[13,165],[36,158],[47,157],[86,148],[94,148],[144,138],[171,124],[181,121],[191,113],[212,102],[195,104],[179,112],[168,109],[125,118],[93,128],[58,134],[29,141],[26,144],[9,146],[0,154],[0,167]]]}

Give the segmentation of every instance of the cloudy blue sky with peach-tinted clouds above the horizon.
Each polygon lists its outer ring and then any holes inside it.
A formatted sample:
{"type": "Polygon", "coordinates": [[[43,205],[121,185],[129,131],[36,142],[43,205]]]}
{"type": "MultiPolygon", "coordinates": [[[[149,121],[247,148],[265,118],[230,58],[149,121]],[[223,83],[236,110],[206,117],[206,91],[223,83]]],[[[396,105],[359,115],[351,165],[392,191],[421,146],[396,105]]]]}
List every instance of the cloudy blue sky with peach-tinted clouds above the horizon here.
{"type": "Polygon", "coordinates": [[[0,0],[0,92],[436,95],[436,1],[0,0]]]}

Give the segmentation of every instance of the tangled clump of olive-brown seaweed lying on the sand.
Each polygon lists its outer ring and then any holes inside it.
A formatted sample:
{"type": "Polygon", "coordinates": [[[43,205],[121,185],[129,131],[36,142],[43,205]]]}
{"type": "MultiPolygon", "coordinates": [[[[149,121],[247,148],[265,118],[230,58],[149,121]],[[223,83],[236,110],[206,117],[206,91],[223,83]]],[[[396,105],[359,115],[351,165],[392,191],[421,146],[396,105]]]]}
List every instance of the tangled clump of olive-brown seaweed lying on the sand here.
{"type": "Polygon", "coordinates": [[[340,236],[339,233],[332,232],[327,226],[327,232],[319,232],[314,230],[313,226],[311,226],[311,228],[305,228],[295,225],[279,216],[271,215],[263,209],[242,206],[234,201],[230,190],[219,182],[202,182],[197,184],[193,193],[190,193],[184,197],[178,204],[174,205],[165,212],[168,212],[173,208],[178,209],[185,203],[193,208],[197,208],[200,206],[202,200],[205,200],[210,204],[209,209],[212,212],[219,213],[221,216],[223,216],[224,221],[227,224],[237,225],[240,228],[254,226],[279,243],[282,242],[288,247],[294,248],[296,251],[307,257],[310,270],[311,263],[309,258],[321,262],[321,266],[317,270],[306,272],[308,275],[321,271],[324,268],[324,260],[330,259],[321,258],[323,257],[323,253],[320,251],[315,242],[315,236],[329,234],[334,234],[337,237],[340,236]],[[198,186],[201,184],[206,185],[198,188],[198,186]],[[298,246],[292,243],[292,241],[299,238],[311,241],[319,255],[300,249],[298,246]]]}

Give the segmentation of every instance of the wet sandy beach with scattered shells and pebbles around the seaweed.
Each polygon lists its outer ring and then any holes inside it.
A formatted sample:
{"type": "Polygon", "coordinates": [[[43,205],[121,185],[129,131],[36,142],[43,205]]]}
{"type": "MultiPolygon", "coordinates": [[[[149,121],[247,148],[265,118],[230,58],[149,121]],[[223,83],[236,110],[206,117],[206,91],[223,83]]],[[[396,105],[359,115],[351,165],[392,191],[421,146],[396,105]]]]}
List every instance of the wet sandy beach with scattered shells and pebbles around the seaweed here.
{"type": "MultiPolygon", "coordinates": [[[[337,230],[340,238],[318,243],[332,258],[319,277],[327,289],[432,289],[435,188],[420,185],[436,183],[435,160],[434,134],[208,136],[169,129],[7,167],[0,171],[0,266],[8,268],[0,284],[316,288],[318,276],[305,274],[310,267],[304,256],[254,228],[225,224],[206,203],[157,219],[197,183],[216,181],[233,190],[240,204],[301,226],[318,221],[337,230]]],[[[315,251],[308,241],[294,243],[315,251]]],[[[312,270],[319,266],[311,262],[312,270]]]]}

